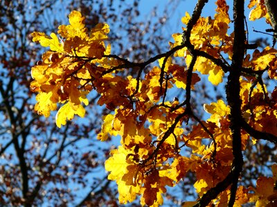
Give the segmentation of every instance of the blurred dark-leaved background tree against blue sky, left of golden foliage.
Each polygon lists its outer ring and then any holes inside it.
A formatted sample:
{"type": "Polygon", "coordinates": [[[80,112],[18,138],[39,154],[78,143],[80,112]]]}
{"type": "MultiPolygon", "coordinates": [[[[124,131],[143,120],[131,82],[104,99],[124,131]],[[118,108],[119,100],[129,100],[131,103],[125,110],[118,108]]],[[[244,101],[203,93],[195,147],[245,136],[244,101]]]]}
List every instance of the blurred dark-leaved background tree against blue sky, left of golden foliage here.
{"type": "Polygon", "coordinates": [[[96,141],[100,117],[109,110],[96,107],[99,95],[91,94],[85,121],[68,122],[62,130],[53,123],[55,117],[44,119],[33,112],[30,67],[44,51],[31,42],[30,34],[54,31],[70,10],[80,10],[89,28],[100,21],[114,25],[109,36],[117,43],[114,50],[142,60],[166,45],[161,34],[168,12],[160,15],[153,8],[145,21],[139,6],[140,1],[1,1],[0,206],[116,206],[116,188],[103,170],[114,143],[96,141]],[[145,31],[151,32],[143,35],[145,31]]]}

